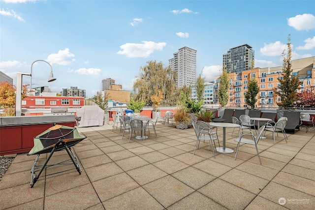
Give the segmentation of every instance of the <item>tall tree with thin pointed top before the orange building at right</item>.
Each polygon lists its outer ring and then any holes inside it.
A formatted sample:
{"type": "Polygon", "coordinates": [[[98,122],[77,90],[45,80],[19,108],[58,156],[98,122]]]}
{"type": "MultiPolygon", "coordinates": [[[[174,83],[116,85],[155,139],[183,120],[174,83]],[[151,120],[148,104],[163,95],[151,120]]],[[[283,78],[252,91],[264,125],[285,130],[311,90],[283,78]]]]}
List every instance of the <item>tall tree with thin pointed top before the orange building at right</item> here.
{"type": "Polygon", "coordinates": [[[275,92],[280,96],[281,101],[278,102],[278,106],[281,108],[293,107],[294,102],[296,101],[296,90],[302,82],[299,80],[298,76],[292,76],[292,64],[291,64],[291,43],[290,43],[290,34],[287,39],[287,55],[285,57],[285,51],[282,53],[283,57],[283,67],[282,67],[282,76],[283,79],[278,78],[280,86],[278,87],[280,91],[275,89],[275,92]]]}

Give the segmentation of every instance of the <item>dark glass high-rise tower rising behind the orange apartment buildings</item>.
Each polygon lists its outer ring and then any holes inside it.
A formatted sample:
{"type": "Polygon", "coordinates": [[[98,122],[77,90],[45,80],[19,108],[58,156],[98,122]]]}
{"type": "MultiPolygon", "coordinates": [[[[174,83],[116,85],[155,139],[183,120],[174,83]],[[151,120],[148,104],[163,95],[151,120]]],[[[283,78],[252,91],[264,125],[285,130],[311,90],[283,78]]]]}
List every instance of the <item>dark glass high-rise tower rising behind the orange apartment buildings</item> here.
{"type": "Polygon", "coordinates": [[[223,54],[223,64],[228,73],[240,74],[242,71],[252,69],[254,50],[248,44],[231,48],[223,54]]]}

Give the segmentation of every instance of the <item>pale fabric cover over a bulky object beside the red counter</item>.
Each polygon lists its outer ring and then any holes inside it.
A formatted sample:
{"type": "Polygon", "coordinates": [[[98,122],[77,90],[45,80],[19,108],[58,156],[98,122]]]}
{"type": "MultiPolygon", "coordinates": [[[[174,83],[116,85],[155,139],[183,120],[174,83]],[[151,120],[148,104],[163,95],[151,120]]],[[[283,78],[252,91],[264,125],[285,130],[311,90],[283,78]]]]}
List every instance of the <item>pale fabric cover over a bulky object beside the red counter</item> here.
{"type": "Polygon", "coordinates": [[[103,126],[104,113],[98,106],[83,106],[77,110],[78,127],[103,126]]]}

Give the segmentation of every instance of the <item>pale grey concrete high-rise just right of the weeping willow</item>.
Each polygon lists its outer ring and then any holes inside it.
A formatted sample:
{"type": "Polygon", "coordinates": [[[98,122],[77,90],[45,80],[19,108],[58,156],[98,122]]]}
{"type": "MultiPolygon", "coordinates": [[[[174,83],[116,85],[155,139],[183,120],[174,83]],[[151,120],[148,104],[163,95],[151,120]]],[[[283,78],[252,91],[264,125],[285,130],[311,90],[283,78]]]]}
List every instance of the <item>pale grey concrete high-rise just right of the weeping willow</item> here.
{"type": "Polygon", "coordinates": [[[177,88],[196,84],[196,55],[196,50],[183,47],[168,60],[171,69],[177,71],[177,88]]]}

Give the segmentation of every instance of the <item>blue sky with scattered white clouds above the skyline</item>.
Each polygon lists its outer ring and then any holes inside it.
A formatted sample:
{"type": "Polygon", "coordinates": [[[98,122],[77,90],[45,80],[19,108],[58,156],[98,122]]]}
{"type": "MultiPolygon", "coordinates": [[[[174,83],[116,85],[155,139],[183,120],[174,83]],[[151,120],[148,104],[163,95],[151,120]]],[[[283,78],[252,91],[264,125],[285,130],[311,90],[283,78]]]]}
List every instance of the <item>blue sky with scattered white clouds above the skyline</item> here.
{"type": "MultiPolygon", "coordinates": [[[[315,56],[314,0],[0,0],[0,70],[31,72],[32,87],[85,89],[92,97],[112,78],[132,90],[149,60],[167,66],[182,47],[197,50],[197,75],[222,69],[222,55],[249,44],[255,67],[315,56]]],[[[23,76],[23,84],[30,84],[23,76]]]]}

